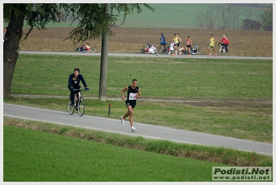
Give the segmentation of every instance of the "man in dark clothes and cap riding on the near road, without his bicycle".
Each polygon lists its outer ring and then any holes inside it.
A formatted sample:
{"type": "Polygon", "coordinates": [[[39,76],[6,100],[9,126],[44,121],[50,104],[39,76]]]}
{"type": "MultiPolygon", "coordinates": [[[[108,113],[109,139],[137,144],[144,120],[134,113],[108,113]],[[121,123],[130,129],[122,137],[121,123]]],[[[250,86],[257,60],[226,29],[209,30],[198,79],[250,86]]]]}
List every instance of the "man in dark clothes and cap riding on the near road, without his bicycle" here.
{"type": "Polygon", "coordinates": [[[84,88],[86,91],[89,91],[87,85],[86,85],[86,80],[84,80],[83,76],[79,74],[81,71],[79,68],[74,69],[74,73],[70,74],[69,79],[68,79],[68,89],[71,91],[71,106],[74,106],[74,99],[75,99],[75,94],[77,96],[79,95],[79,91],[76,89],[80,89],[81,86],[79,85],[80,81],[83,84],[84,88]]]}

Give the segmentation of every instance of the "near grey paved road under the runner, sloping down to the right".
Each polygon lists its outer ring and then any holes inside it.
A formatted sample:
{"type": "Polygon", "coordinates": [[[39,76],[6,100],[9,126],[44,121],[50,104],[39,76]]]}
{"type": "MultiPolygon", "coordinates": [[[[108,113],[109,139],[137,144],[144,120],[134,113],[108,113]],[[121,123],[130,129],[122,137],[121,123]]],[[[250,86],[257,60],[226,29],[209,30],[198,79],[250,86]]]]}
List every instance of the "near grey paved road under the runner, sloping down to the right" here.
{"type": "Polygon", "coordinates": [[[225,146],[228,148],[239,149],[242,151],[255,151],[266,155],[273,155],[273,144],[262,142],[253,142],[248,140],[239,140],[235,138],[221,137],[205,133],[196,133],[192,131],[183,131],[170,129],[167,127],[157,127],[150,124],[135,122],[136,131],[130,131],[130,124],[126,122],[121,125],[119,118],[117,120],[110,118],[100,118],[95,116],[78,114],[70,115],[68,112],[52,111],[48,109],[38,109],[34,107],[23,107],[20,105],[3,104],[3,116],[12,118],[21,118],[27,120],[37,120],[43,122],[52,122],[56,124],[82,127],[86,129],[95,129],[110,133],[120,133],[132,136],[143,136],[150,139],[171,140],[174,142],[201,144],[210,146],[225,146]]]}

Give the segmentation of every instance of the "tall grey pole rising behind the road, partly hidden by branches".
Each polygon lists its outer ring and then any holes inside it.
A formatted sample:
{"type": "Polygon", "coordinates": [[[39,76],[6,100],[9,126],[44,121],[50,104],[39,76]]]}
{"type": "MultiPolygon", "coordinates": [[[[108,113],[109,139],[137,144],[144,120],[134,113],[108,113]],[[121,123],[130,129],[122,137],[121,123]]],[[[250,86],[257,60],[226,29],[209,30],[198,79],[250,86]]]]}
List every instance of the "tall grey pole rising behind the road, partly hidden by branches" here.
{"type": "MultiPolygon", "coordinates": [[[[106,14],[109,14],[109,4],[105,7],[106,14]]],[[[101,71],[99,77],[99,100],[106,101],[106,82],[108,74],[108,33],[103,32],[101,37],[101,71]]]]}

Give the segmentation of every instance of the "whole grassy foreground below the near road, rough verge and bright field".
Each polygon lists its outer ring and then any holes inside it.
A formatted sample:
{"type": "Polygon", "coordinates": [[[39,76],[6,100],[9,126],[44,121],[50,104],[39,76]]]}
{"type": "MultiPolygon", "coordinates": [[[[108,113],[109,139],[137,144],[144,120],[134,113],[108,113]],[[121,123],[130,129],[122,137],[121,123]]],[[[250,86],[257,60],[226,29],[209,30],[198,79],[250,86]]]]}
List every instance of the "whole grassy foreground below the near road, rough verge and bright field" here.
{"type": "Polygon", "coordinates": [[[223,147],[14,118],[4,122],[5,182],[208,182],[212,166],[273,164],[272,157],[223,147]]]}

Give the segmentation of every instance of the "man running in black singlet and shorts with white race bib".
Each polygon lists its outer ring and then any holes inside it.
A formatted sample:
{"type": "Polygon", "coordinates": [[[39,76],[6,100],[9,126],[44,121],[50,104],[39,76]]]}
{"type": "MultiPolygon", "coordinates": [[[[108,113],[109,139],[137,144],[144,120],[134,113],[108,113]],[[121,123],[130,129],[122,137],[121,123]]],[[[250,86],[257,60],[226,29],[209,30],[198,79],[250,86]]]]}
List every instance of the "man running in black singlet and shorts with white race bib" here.
{"type": "Polygon", "coordinates": [[[132,85],[125,87],[122,91],[121,91],[121,99],[124,100],[125,96],[124,96],[124,92],[128,91],[128,98],[126,100],[126,107],[128,107],[128,111],[124,116],[121,116],[121,124],[124,125],[124,121],[126,118],[128,118],[128,116],[130,116],[129,120],[130,120],[130,127],[131,127],[131,131],[135,131],[135,127],[133,127],[133,109],[135,108],[136,105],[136,99],[137,98],[141,98],[141,92],[140,92],[140,88],[137,87],[137,80],[133,79],[132,80],[132,85]]]}

